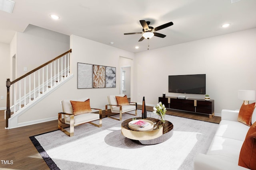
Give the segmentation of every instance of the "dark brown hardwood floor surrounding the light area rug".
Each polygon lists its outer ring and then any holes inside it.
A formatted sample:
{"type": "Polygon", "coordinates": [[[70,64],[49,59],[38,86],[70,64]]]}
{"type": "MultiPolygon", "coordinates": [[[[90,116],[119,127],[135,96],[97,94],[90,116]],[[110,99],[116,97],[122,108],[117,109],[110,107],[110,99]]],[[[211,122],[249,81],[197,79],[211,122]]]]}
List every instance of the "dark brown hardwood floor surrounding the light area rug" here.
{"type": "MultiPolygon", "coordinates": [[[[142,109],[138,105],[138,109],[142,109]]],[[[151,106],[146,106],[147,111],[153,111],[151,106]]],[[[206,115],[196,113],[186,113],[184,111],[167,110],[168,115],[176,115],[180,117],[187,117],[190,119],[198,119],[202,121],[209,121],[219,123],[220,117],[214,116],[212,119],[206,115]]],[[[105,111],[102,111],[103,117],[105,111]]],[[[104,125],[104,124],[103,124],[104,125]]],[[[4,129],[4,111],[0,110],[0,169],[14,169],[14,170],[48,170],[47,164],[44,162],[29,137],[46,133],[58,129],[58,121],[49,121],[20,127],[15,129],[4,129]],[[13,163],[12,163],[13,162],[13,163]],[[9,163],[9,164],[8,164],[9,163]]]]}

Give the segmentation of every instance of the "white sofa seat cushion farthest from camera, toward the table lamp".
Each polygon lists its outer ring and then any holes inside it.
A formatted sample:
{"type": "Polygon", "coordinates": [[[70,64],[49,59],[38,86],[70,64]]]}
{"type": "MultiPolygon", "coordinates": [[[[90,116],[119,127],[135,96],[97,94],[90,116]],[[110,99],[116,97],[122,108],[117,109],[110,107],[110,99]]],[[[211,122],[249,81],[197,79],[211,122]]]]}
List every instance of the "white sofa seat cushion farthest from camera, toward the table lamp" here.
{"type": "Polygon", "coordinates": [[[215,136],[236,139],[244,142],[249,126],[239,121],[222,120],[218,126],[215,136]]]}

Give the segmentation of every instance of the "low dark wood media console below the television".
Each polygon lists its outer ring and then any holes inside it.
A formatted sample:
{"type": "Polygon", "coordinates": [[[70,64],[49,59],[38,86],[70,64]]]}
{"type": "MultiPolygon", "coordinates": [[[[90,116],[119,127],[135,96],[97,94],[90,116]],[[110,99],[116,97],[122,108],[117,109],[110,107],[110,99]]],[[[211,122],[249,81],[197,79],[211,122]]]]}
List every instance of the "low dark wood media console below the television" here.
{"type": "Polygon", "coordinates": [[[159,97],[158,102],[162,102],[167,109],[207,114],[210,118],[214,116],[214,100],[206,101],[204,99],[193,98],[177,99],[175,97],[166,96],[165,98],[159,97]]]}

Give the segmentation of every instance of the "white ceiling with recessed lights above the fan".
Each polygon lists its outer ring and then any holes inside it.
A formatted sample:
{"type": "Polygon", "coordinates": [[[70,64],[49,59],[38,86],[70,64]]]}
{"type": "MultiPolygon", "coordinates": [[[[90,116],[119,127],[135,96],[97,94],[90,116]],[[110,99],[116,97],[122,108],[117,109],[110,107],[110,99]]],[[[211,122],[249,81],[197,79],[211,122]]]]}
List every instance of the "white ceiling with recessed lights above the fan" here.
{"type": "MultiPolygon", "coordinates": [[[[223,35],[256,27],[256,0],[14,0],[12,14],[0,11],[0,42],[10,43],[16,31],[28,24],[87,39],[137,53],[197,39],[223,35]],[[49,15],[57,14],[59,20],[49,15]],[[157,27],[165,38],[138,40],[139,20],[157,27]],[[230,27],[222,28],[224,23],[230,27]],[[114,44],[110,44],[114,42],[114,44]],[[135,49],[139,46],[139,49],[135,49]]],[[[239,40],[238,40],[239,41],[239,40]]]]}

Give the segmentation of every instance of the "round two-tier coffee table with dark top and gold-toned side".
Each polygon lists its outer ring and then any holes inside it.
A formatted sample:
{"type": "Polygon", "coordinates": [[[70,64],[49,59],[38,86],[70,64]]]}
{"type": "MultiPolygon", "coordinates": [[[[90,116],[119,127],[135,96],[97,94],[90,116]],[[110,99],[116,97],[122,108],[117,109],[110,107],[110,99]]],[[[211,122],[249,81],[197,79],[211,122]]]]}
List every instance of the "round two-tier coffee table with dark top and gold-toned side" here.
{"type": "MultiPolygon", "coordinates": [[[[136,117],[141,119],[141,117],[136,117]]],[[[151,131],[135,131],[129,128],[128,123],[132,121],[132,118],[122,122],[121,132],[125,137],[132,139],[133,141],[139,142],[143,145],[153,145],[166,141],[173,134],[173,124],[170,121],[161,123],[159,119],[147,118],[154,122],[154,128],[151,131]]]]}

